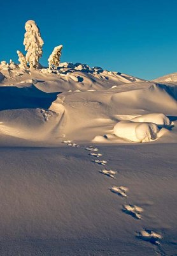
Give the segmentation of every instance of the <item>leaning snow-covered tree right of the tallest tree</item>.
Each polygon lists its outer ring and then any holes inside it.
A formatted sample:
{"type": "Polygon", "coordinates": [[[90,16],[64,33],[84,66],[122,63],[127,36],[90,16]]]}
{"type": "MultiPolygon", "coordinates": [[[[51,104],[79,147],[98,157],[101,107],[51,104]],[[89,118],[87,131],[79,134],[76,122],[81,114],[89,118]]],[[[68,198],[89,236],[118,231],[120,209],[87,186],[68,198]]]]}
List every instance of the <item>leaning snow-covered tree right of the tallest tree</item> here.
{"type": "Polygon", "coordinates": [[[57,67],[59,67],[61,54],[62,54],[62,45],[56,46],[53,49],[52,54],[50,54],[50,57],[48,58],[49,68],[57,69],[57,67]]]}

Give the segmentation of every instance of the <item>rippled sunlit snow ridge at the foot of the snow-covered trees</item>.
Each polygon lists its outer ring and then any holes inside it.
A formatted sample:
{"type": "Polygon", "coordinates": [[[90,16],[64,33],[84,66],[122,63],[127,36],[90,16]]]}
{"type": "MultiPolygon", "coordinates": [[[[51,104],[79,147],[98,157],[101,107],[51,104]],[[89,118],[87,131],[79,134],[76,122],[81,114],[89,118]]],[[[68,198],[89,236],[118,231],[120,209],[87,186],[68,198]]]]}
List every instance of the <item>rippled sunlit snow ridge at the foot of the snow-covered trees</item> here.
{"type": "Polygon", "coordinates": [[[41,70],[24,70],[18,65],[12,66],[4,61],[0,65],[0,71],[4,74],[4,84],[15,84],[35,77],[37,86],[46,92],[67,92],[71,90],[104,90],[111,88],[113,84],[120,85],[141,81],[136,77],[118,72],[110,72],[102,68],[90,68],[80,63],[60,63],[58,70],[42,68],[41,70]]]}

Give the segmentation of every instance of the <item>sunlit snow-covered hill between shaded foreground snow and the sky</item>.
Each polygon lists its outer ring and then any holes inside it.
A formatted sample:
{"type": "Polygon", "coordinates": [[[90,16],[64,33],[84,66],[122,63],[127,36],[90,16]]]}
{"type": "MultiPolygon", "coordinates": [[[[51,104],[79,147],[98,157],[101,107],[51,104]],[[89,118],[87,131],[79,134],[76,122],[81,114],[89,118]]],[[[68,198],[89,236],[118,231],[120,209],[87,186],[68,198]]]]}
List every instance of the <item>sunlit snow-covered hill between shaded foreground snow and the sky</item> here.
{"type": "Polygon", "coordinates": [[[145,81],[81,63],[60,63],[51,70],[25,69],[3,61],[0,74],[0,131],[15,141],[176,141],[175,83],[145,81]],[[160,123],[157,113],[164,115],[160,123]],[[143,118],[147,114],[151,118],[143,118]],[[136,116],[142,116],[138,122],[148,125],[138,124],[135,129],[136,123],[130,122],[135,122],[136,116]],[[115,132],[114,126],[120,121],[120,131],[115,132]]]}

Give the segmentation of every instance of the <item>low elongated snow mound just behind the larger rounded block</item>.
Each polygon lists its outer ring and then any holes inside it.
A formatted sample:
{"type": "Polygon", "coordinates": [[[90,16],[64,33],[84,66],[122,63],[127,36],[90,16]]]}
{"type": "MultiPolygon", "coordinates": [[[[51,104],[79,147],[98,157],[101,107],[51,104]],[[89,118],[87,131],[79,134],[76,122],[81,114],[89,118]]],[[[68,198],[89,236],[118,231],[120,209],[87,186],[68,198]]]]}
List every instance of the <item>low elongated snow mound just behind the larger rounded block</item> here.
{"type": "Polygon", "coordinates": [[[148,123],[154,123],[157,125],[171,125],[171,121],[167,116],[165,116],[162,113],[152,113],[142,116],[137,116],[135,118],[132,118],[132,122],[148,122],[148,123]]]}

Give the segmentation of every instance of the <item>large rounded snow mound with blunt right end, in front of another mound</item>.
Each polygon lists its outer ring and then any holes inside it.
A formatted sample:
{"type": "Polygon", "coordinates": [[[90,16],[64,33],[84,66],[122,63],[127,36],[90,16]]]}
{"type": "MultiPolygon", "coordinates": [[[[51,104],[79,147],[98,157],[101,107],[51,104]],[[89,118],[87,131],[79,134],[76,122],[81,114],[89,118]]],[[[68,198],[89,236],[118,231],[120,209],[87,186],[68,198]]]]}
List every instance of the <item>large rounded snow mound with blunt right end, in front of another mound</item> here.
{"type": "Polygon", "coordinates": [[[141,123],[131,121],[118,122],[113,132],[116,136],[134,142],[148,142],[157,139],[159,129],[153,123],[141,123]]]}

